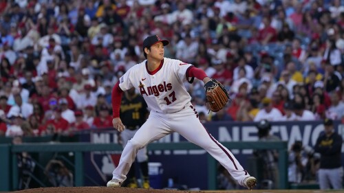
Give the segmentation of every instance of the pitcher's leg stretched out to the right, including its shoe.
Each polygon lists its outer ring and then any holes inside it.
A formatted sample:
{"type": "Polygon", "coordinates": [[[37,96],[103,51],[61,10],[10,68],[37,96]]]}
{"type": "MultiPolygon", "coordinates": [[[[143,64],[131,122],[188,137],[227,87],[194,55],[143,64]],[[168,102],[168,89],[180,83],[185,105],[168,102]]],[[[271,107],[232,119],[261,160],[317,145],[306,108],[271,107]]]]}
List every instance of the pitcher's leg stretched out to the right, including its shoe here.
{"type": "Polygon", "coordinates": [[[240,185],[252,189],[255,186],[256,180],[250,177],[250,174],[240,165],[239,161],[234,157],[232,152],[225,146],[219,143],[198,119],[197,113],[193,106],[187,106],[182,111],[175,113],[171,119],[172,130],[180,133],[185,139],[188,139],[193,144],[204,148],[211,154],[219,163],[228,170],[232,177],[237,180],[240,185]]]}

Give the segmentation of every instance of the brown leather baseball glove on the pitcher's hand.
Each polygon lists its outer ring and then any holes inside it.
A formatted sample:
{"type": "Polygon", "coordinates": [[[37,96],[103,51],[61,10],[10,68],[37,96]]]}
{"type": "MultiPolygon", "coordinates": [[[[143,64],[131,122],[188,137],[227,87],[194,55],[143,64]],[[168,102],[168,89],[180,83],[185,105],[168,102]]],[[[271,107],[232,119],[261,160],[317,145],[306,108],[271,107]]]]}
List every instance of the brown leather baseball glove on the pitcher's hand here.
{"type": "Polygon", "coordinates": [[[230,100],[224,85],[215,79],[206,82],[204,89],[206,90],[206,102],[209,103],[210,110],[213,112],[223,109],[228,100],[230,100]]]}

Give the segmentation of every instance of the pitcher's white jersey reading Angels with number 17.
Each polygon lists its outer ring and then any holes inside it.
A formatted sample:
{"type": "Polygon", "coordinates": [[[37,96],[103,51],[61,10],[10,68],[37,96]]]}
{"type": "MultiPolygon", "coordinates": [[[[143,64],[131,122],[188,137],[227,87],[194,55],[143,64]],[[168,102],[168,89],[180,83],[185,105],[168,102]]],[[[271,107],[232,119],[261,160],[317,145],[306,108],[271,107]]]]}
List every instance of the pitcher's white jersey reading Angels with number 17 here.
{"type": "Polygon", "coordinates": [[[131,67],[120,78],[120,89],[126,91],[131,87],[138,89],[151,111],[158,113],[175,113],[191,101],[183,82],[186,71],[192,65],[180,60],[164,58],[155,73],[147,68],[147,60],[131,67]]]}

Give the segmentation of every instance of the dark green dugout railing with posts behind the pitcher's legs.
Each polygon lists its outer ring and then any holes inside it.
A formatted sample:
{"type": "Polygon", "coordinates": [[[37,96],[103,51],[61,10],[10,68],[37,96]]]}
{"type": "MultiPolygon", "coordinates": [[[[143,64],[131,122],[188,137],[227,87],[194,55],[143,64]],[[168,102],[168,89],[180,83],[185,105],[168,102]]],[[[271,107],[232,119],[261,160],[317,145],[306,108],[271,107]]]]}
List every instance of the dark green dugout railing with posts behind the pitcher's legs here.
{"type": "MultiPolygon", "coordinates": [[[[288,151],[286,141],[254,141],[254,142],[223,142],[228,149],[273,149],[279,152],[279,189],[288,188],[288,151]]],[[[200,150],[199,146],[189,142],[180,143],[153,143],[149,144],[149,150],[200,150]]],[[[0,164],[0,191],[16,190],[18,185],[17,152],[74,152],[74,184],[84,185],[83,152],[92,151],[121,151],[122,146],[118,144],[91,144],[91,143],[34,143],[21,145],[0,145],[3,160],[0,164]],[[12,170],[10,167],[12,160],[12,170]],[[12,174],[12,176],[11,176],[12,174]],[[10,185],[12,179],[12,186],[10,185]]],[[[208,189],[216,189],[216,163],[217,161],[208,154],[208,189]]]]}

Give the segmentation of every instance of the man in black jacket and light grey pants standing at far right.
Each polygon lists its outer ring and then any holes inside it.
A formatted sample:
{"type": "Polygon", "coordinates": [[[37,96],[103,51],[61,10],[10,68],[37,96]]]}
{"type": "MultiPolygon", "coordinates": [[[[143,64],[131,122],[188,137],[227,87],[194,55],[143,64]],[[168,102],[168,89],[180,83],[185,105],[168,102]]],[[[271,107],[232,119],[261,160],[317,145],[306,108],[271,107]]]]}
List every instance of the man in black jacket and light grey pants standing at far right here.
{"type": "Polygon", "coordinates": [[[343,167],[341,163],[341,147],[343,139],[334,130],[333,120],[325,119],[324,133],[316,139],[314,150],[321,154],[319,168],[319,185],[321,190],[332,187],[342,189],[343,167]]]}

